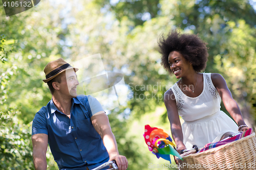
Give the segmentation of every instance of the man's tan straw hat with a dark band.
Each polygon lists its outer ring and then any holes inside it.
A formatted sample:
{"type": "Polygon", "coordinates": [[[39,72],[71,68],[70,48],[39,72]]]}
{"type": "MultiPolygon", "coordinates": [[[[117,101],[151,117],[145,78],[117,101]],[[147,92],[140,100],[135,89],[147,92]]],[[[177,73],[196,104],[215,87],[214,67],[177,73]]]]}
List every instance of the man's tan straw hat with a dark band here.
{"type": "Polygon", "coordinates": [[[59,74],[61,74],[61,72],[65,71],[67,69],[72,69],[72,68],[74,69],[75,72],[78,70],[78,68],[72,67],[69,63],[64,61],[62,58],[51,61],[46,65],[46,67],[44,69],[45,74],[46,74],[46,79],[42,80],[42,81],[47,83],[50,80],[52,80],[53,78],[55,78],[56,76],[58,76],[59,74]]]}

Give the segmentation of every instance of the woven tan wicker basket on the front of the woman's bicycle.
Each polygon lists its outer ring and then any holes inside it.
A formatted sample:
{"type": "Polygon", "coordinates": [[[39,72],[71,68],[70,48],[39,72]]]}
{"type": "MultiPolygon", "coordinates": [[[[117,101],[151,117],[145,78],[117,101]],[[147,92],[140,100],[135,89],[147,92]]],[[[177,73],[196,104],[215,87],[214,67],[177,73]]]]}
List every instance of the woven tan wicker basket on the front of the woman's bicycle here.
{"type": "Polygon", "coordinates": [[[181,157],[179,169],[256,169],[255,133],[201,153],[184,153],[181,157]]]}

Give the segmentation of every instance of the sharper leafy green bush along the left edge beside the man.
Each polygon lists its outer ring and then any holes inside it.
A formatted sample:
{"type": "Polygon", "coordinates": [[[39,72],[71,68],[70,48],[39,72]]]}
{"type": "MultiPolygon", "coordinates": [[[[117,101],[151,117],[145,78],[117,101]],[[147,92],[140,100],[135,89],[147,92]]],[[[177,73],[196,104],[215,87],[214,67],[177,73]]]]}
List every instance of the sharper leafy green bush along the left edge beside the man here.
{"type": "MultiPolygon", "coordinates": [[[[0,54],[4,53],[4,61],[7,61],[8,54],[13,50],[5,51],[2,39],[0,45],[0,54]]],[[[3,65],[2,63],[2,65],[3,65]]],[[[3,68],[3,67],[2,67],[3,68]]],[[[17,118],[18,110],[6,105],[7,94],[10,90],[9,79],[13,75],[15,66],[8,68],[0,76],[0,169],[34,169],[32,158],[32,143],[30,125],[25,125],[17,118]]]]}

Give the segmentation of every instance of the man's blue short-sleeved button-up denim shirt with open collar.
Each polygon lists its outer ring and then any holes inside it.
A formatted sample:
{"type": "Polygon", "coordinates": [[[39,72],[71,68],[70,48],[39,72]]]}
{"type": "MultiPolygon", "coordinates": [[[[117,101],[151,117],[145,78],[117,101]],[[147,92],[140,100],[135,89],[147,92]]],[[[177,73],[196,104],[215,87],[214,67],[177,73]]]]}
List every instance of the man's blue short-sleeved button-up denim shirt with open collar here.
{"type": "Polygon", "coordinates": [[[72,99],[70,118],[60,112],[51,100],[35,114],[32,135],[48,135],[59,169],[94,168],[109,160],[109,154],[90,119],[99,111],[103,111],[100,103],[90,95],[72,99]]]}

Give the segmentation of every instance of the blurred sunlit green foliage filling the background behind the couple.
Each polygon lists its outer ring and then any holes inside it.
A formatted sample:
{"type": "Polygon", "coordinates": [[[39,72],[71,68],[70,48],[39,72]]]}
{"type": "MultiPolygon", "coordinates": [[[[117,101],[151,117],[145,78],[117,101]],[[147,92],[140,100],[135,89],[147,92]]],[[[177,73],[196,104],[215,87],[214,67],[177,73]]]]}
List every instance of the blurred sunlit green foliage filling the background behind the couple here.
{"type": "MultiPolygon", "coordinates": [[[[0,10],[0,35],[5,35],[0,38],[0,144],[4,162],[0,169],[33,169],[31,121],[51,100],[50,91],[42,82],[45,65],[59,57],[71,62],[97,53],[101,54],[105,70],[122,72],[132,90],[126,106],[109,115],[119,152],[129,160],[129,169],[148,169],[151,158],[139,152],[147,147],[135,142],[142,135],[127,133],[132,122],[139,122],[157,107],[165,109],[163,93],[177,79],[162,68],[157,40],[173,28],[198,34],[208,43],[205,71],[223,75],[244,117],[253,125],[254,18],[253,8],[241,0],[143,0],[116,4],[86,0],[69,1],[66,5],[44,1],[12,17],[0,10]],[[146,13],[150,18],[144,20],[146,13]]],[[[166,115],[162,111],[152,119],[168,127],[166,115]]],[[[56,169],[50,151],[47,161],[49,169],[56,169]]]]}

